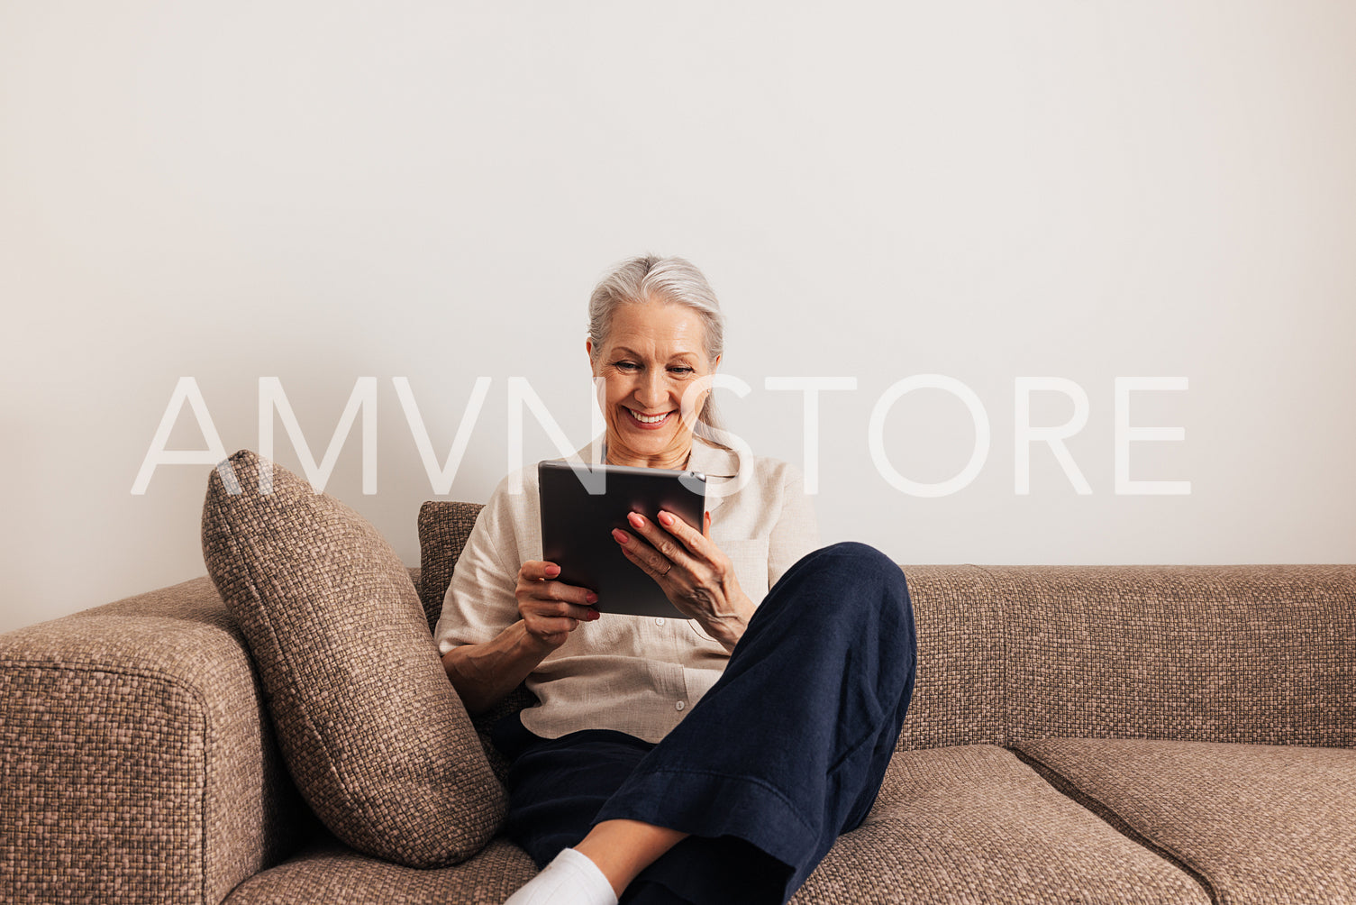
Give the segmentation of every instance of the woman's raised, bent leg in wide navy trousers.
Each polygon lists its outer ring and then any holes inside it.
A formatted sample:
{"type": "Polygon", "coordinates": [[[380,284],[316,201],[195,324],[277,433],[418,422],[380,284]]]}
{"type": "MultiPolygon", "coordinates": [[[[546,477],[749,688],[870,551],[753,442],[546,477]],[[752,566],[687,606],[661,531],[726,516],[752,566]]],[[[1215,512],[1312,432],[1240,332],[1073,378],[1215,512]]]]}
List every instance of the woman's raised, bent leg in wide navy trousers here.
{"type": "MultiPolygon", "coordinates": [[[[899,566],[856,543],[808,554],[759,604],[720,681],[602,806],[594,832],[636,821],[693,834],[637,874],[678,893],[709,881],[698,860],[713,843],[743,840],[767,856],[750,864],[772,878],[766,901],[785,901],[871,810],[915,662],[899,566]]],[[[715,901],[709,889],[687,898],[715,901]]]]}

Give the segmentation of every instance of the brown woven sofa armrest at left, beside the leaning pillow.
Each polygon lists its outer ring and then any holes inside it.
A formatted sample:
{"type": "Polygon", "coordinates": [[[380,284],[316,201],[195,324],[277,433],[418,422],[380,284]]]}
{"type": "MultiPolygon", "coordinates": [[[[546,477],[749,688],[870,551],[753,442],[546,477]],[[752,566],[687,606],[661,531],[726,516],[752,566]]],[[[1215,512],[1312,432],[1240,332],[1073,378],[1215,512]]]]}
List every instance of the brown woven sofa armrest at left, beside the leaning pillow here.
{"type": "Polygon", "coordinates": [[[312,826],[207,578],[0,636],[0,901],[201,902],[312,826]]]}

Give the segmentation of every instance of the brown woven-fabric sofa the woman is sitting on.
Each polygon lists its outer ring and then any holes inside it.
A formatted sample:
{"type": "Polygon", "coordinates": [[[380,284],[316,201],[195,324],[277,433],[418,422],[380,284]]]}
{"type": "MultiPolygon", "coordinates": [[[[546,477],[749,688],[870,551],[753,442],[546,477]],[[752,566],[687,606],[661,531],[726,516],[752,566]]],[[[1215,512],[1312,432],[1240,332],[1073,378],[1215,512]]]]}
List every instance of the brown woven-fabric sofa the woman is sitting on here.
{"type": "MultiPolygon", "coordinates": [[[[430,621],[475,510],[420,513],[430,621]]],[[[1356,902],[1356,566],[903,569],[899,753],[795,902],[1356,902]]],[[[0,636],[0,900],[495,904],[533,874],[502,837],[433,870],[339,843],[266,704],[207,578],[0,636]]]]}

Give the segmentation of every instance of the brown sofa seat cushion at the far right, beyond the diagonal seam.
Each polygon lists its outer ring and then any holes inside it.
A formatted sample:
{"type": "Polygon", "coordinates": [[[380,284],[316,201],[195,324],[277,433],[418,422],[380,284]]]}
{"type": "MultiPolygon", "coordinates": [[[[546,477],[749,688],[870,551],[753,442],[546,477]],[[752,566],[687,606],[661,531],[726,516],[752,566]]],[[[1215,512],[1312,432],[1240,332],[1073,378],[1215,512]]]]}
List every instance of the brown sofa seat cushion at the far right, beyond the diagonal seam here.
{"type": "Polygon", "coordinates": [[[1153,739],[1018,749],[1222,905],[1356,901],[1356,750],[1153,739]]]}

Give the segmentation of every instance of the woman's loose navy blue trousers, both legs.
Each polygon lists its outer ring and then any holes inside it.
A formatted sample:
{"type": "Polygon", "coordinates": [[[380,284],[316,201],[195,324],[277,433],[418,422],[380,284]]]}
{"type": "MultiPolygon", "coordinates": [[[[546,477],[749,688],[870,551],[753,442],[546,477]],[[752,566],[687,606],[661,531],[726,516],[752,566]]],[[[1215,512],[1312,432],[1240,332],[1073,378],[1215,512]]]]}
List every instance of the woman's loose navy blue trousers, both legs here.
{"type": "Polygon", "coordinates": [[[658,745],[612,730],[544,739],[495,727],[511,761],[507,832],[538,866],[606,820],[692,833],[622,902],[782,904],[880,791],[914,691],[899,566],[816,550],[767,592],[724,674],[658,745]]]}

